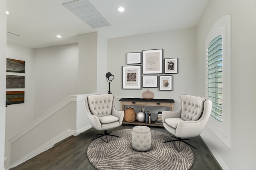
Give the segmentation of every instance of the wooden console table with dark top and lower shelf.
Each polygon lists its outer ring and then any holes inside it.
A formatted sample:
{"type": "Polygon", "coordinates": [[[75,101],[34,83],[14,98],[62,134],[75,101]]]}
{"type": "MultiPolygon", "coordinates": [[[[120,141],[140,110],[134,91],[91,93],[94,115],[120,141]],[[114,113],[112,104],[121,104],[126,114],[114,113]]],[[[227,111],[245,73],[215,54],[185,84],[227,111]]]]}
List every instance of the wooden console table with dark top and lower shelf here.
{"type": "MultiPolygon", "coordinates": [[[[174,110],[174,100],[173,99],[151,99],[145,100],[141,98],[121,98],[121,110],[125,111],[125,105],[138,105],[138,106],[158,106],[158,107],[170,107],[170,111],[174,110]]],[[[132,124],[132,125],[146,125],[146,126],[161,126],[156,125],[155,121],[152,120],[152,123],[144,123],[139,121],[126,122],[123,121],[123,124],[132,124]]]]}

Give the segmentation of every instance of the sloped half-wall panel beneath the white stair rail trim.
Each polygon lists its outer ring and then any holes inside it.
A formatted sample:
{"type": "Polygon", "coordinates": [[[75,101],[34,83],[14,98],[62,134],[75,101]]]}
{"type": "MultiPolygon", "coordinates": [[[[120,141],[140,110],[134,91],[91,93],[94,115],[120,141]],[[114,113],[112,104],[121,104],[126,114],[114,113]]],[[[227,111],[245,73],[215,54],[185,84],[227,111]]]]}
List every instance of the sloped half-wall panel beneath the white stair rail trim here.
{"type": "Polygon", "coordinates": [[[39,123],[14,141],[10,148],[10,164],[44,146],[67,129],[76,130],[76,102],[70,102],[62,107],[43,123],[39,123]]]}

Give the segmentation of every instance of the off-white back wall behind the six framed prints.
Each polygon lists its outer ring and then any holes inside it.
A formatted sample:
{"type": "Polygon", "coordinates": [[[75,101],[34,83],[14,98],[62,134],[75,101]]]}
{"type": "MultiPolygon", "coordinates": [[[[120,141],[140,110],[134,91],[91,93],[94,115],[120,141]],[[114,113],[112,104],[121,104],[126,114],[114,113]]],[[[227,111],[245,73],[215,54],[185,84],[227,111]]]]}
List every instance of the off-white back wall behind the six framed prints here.
{"type": "MultiPolygon", "coordinates": [[[[195,27],[108,39],[108,71],[115,76],[111,82],[111,92],[119,98],[142,98],[142,93],[150,89],[154,92],[156,99],[174,99],[174,110],[178,110],[181,94],[196,94],[195,41],[195,27]],[[178,58],[178,74],[155,74],[172,75],[173,90],[159,91],[159,88],[122,89],[122,66],[127,66],[126,53],[142,52],[142,50],[149,49],[163,49],[163,58],[178,58]]],[[[154,74],[142,74],[142,76],[148,75],[154,74]]]]}

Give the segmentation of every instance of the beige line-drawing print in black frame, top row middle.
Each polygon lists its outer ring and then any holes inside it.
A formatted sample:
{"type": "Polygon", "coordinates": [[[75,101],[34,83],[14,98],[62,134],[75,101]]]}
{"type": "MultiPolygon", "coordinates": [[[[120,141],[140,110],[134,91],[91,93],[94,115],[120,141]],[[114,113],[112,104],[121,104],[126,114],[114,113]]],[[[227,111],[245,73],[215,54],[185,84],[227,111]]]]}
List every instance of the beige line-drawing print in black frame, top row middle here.
{"type": "Polygon", "coordinates": [[[162,74],[163,49],[142,51],[142,74],[162,74]]]}

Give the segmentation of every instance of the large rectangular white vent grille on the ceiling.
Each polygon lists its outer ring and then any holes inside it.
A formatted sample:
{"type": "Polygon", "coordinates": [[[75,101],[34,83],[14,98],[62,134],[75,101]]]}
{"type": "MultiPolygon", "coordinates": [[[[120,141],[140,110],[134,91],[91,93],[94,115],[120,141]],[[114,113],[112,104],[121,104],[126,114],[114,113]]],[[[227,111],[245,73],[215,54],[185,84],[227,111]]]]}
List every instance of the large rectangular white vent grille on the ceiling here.
{"type": "Polygon", "coordinates": [[[62,4],[92,28],[111,25],[88,0],[74,0],[62,4]]]}

